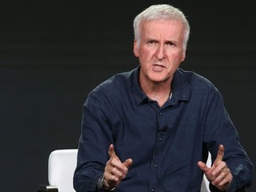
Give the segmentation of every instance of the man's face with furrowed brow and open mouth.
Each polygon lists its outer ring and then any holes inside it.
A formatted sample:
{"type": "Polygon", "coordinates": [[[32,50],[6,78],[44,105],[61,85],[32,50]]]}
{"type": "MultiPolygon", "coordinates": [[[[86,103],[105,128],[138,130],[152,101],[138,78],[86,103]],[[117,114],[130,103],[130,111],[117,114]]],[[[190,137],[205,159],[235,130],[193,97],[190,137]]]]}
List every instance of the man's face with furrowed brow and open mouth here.
{"type": "Polygon", "coordinates": [[[185,59],[184,28],[180,20],[144,21],[140,26],[140,45],[135,39],[133,52],[140,60],[140,83],[171,82],[185,59]]]}

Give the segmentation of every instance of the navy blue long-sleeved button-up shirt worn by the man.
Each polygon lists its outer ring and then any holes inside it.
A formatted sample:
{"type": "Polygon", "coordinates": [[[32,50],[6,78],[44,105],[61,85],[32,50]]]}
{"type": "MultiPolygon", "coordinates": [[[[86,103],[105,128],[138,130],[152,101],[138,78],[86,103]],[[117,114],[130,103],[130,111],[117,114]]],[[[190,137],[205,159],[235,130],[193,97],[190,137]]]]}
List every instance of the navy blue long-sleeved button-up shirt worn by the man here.
{"type": "Polygon", "coordinates": [[[229,191],[251,184],[252,162],[210,81],[179,68],[172,97],[160,108],[142,92],[139,74],[140,67],[117,74],[88,95],[74,175],[76,192],[97,191],[111,143],[122,162],[133,160],[116,192],[198,192],[203,172],[197,162],[205,162],[208,151],[214,160],[220,144],[234,176],[229,191]]]}

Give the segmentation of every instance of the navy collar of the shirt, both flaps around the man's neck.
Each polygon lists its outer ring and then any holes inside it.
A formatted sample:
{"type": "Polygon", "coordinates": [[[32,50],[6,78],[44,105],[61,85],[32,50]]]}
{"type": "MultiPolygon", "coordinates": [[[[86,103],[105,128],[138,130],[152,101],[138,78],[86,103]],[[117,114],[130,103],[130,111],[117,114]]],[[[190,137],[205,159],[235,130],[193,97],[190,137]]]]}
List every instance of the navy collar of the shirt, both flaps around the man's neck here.
{"type": "MultiPolygon", "coordinates": [[[[132,92],[135,102],[138,105],[148,102],[148,96],[141,90],[140,87],[140,66],[135,68],[132,74],[132,92]]],[[[190,89],[184,76],[184,71],[178,68],[174,73],[172,80],[172,104],[177,103],[179,100],[189,100],[189,97],[190,89]]]]}

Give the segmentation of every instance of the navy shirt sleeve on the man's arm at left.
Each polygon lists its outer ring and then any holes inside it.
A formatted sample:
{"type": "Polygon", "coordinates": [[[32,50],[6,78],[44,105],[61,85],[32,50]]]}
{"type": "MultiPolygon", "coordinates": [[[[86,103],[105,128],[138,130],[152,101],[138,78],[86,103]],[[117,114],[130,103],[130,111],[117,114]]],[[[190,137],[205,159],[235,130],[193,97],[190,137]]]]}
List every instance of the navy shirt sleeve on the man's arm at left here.
{"type": "Polygon", "coordinates": [[[108,110],[99,92],[91,92],[84,103],[77,166],[76,192],[97,191],[96,185],[108,161],[108,146],[113,143],[108,126],[108,110]]]}

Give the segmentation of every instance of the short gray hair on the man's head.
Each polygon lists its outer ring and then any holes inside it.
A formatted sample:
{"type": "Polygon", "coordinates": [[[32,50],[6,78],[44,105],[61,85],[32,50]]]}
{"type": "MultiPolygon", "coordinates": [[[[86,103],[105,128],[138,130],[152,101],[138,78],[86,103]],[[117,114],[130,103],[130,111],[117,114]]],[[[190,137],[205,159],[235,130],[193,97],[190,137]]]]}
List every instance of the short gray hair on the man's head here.
{"type": "Polygon", "coordinates": [[[170,4],[156,4],[149,6],[143,12],[140,12],[135,19],[133,20],[133,30],[134,30],[134,38],[137,40],[138,44],[140,44],[140,24],[144,20],[180,20],[183,27],[185,28],[184,34],[184,43],[183,49],[186,51],[189,37],[189,24],[183,12],[181,12],[178,8],[173,7],[170,4]]]}

